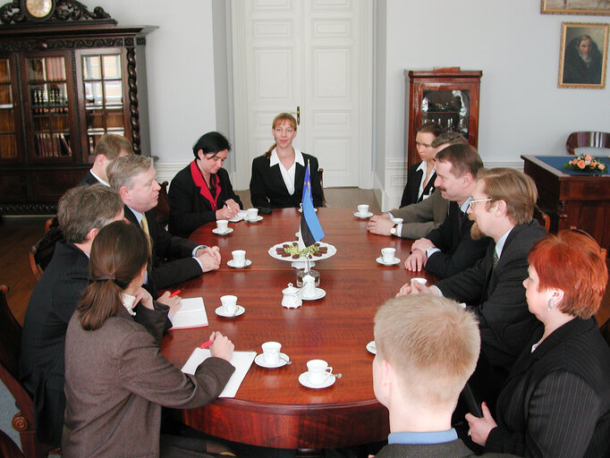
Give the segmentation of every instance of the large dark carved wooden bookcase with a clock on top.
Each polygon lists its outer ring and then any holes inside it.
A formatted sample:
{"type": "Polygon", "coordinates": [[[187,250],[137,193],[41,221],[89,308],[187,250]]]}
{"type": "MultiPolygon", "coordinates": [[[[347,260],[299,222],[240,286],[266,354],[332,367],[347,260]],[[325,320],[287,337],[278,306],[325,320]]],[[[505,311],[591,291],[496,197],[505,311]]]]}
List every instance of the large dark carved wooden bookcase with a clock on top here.
{"type": "Polygon", "coordinates": [[[76,0],[53,1],[37,21],[24,4],[0,7],[0,216],[54,214],[106,132],[149,154],[144,37],[154,28],[118,26],[76,0]]]}

